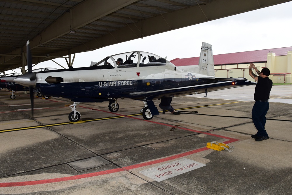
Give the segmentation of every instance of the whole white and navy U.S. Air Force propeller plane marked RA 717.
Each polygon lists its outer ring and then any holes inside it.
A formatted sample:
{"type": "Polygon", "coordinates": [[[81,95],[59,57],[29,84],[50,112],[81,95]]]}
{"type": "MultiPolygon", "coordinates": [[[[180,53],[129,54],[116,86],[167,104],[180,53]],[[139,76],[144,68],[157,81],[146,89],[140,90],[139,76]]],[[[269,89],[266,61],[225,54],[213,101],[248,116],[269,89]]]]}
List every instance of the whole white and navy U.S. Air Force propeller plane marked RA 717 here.
{"type": "MultiPolygon", "coordinates": [[[[27,64],[30,50],[27,42],[27,64]]],[[[15,82],[36,87],[47,96],[63,97],[73,101],[69,114],[71,122],[80,119],[76,106],[81,102],[109,101],[109,111],[117,112],[118,98],[130,98],[145,103],[140,110],[144,119],[159,115],[154,99],[241,87],[256,84],[245,78],[215,78],[212,46],[203,42],[199,72],[189,72],[176,67],[165,58],[148,52],[134,51],[108,56],[91,66],[65,70],[28,73],[18,76],[15,82]]],[[[30,90],[31,96],[33,91],[30,90]]],[[[33,111],[33,97],[31,97],[33,111]]]]}

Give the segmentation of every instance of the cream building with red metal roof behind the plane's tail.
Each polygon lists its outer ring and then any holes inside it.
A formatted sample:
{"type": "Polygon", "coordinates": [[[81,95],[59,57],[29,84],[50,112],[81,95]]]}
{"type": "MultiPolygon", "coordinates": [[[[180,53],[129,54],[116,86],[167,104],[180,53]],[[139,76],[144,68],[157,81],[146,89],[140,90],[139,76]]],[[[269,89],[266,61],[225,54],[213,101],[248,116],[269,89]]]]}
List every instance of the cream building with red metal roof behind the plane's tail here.
{"type": "MultiPolygon", "coordinates": [[[[213,58],[215,77],[245,77],[253,80],[248,74],[248,67],[252,62],[258,70],[264,67],[269,68],[270,78],[274,83],[292,83],[292,47],[218,54],[213,55],[213,58]]],[[[182,69],[194,70],[199,64],[199,57],[175,58],[171,60],[171,63],[182,69]]]]}

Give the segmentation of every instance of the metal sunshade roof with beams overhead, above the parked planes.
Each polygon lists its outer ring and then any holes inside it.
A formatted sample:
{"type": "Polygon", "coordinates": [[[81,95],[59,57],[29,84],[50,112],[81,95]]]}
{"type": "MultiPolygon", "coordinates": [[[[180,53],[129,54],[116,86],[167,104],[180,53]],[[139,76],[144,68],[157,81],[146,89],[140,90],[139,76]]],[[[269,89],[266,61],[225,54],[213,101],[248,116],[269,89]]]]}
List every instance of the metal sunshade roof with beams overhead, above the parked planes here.
{"type": "Polygon", "coordinates": [[[0,73],[287,1],[1,0],[0,73]]]}

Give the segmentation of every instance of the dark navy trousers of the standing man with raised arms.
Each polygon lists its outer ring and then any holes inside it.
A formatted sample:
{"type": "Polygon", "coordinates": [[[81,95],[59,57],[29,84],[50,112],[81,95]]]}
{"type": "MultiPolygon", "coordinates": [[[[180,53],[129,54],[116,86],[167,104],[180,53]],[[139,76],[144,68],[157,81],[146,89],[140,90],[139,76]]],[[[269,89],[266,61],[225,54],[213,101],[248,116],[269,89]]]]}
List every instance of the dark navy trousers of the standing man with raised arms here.
{"type": "Polygon", "coordinates": [[[253,105],[253,110],[251,112],[253,118],[253,124],[255,125],[258,132],[257,136],[268,136],[265,130],[266,124],[266,114],[269,110],[269,102],[256,101],[253,105]]]}

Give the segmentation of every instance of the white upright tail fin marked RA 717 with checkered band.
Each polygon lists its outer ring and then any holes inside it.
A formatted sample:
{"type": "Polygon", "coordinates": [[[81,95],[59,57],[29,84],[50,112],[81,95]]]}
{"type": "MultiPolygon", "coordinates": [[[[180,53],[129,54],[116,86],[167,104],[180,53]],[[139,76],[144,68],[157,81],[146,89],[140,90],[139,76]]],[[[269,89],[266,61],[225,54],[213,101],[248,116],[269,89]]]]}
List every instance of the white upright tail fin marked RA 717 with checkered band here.
{"type": "Polygon", "coordinates": [[[215,76],[212,45],[203,42],[199,59],[199,73],[215,76]]]}

